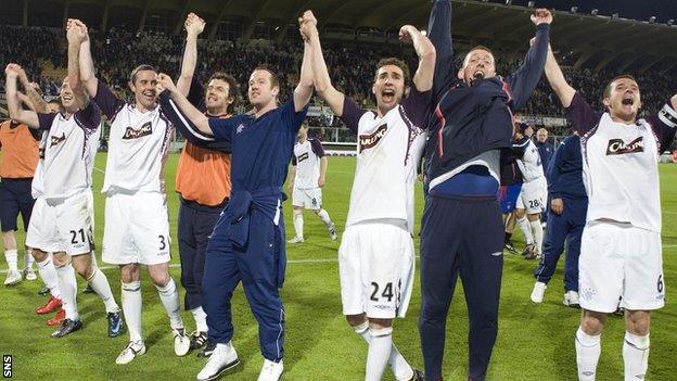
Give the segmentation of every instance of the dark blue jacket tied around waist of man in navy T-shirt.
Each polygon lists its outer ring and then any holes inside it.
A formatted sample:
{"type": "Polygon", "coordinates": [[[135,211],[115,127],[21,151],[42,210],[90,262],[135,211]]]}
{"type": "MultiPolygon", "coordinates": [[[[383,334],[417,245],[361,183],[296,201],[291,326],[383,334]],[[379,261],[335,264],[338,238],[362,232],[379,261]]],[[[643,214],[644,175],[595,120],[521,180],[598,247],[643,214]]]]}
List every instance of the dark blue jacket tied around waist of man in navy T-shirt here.
{"type": "Polygon", "coordinates": [[[250,218],[253,211],[263,213],[270,221],[278,215],[279,202],[282,198],[280,188],[270,187],[250,192],[246,190],[233,191],[228,207],[215,230],[221,224],[226,226],[225,238],[238,249],[244,249],[250,241],[250,218]]]}

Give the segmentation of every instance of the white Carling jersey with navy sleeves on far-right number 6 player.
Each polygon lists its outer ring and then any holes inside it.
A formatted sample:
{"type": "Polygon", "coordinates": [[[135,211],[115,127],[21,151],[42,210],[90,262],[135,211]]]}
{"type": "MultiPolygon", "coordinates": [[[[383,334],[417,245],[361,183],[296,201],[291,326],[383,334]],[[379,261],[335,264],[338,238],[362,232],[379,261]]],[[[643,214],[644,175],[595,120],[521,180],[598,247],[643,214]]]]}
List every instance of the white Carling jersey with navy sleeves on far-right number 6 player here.
{"type": "Polygon", "coordinates": [[[595,113],[579,94],[567,114],[576,129],[588,130],[580,138],[587,220],[611,219],[661,232],[659,153],[672,141],[675,126],[657,116],[615,123],[608,113],[595,113]]]}

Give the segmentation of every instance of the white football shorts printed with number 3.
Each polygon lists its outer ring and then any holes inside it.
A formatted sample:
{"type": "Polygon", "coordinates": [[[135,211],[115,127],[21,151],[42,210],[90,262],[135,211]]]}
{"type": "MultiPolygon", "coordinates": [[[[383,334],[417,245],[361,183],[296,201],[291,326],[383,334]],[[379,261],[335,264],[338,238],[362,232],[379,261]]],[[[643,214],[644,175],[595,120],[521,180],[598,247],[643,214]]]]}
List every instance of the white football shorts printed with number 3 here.
{"type": "Polygon", "coordinates": [[[157,265],[169,262],[169,218],[163,193],[113,193],[106,196],[103,262],[157,265]]]}

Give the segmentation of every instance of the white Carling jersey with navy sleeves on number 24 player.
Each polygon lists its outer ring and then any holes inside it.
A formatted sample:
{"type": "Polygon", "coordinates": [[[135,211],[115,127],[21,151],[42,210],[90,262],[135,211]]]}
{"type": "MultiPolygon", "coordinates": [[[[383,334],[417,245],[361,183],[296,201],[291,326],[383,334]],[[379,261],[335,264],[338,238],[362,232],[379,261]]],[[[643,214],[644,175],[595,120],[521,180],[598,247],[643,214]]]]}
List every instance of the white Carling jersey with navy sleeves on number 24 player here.
{"type": "Polygon", "coordinates": [[[425,145],[431,91],[410,94],[383,117],[345,98],[341,118],[357,134],[357,166],[346,227],[376,219],[401,219],[413,232],[413,185],[425,145]]]}

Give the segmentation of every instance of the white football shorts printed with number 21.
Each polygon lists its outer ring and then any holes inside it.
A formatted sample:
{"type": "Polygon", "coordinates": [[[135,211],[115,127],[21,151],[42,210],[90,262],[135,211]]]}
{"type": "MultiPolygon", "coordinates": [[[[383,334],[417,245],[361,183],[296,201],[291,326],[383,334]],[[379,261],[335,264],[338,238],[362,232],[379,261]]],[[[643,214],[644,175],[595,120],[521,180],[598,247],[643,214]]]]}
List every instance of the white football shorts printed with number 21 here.
{"type": "Polygon", "coordinates": [[[91,190],[64,199],[38,198],[26,234],[26,245],[43,252],[89,254],[94,249],[91,190]]]}

